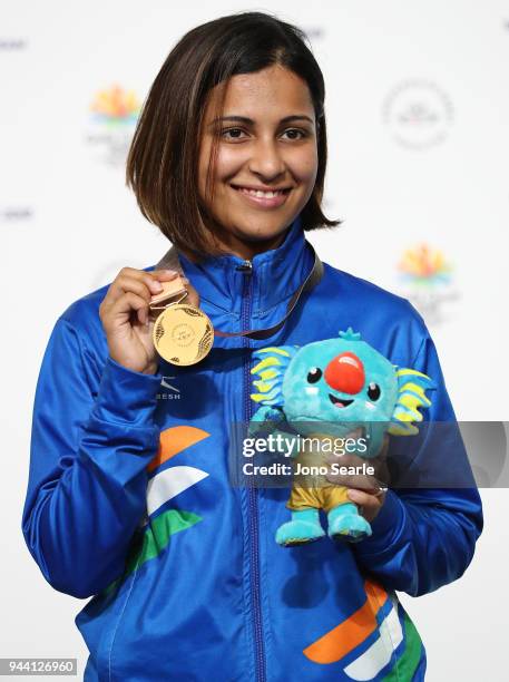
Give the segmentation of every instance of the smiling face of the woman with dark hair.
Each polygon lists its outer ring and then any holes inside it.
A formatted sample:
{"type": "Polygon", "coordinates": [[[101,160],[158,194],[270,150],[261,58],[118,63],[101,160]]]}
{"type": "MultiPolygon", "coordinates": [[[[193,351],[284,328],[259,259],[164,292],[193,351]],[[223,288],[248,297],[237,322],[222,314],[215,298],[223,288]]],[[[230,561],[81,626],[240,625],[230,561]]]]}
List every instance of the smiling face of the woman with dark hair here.
{"type": "Polygon", "coordinates": [[[199,194],[222,225],[217,240],[251,259],[275,249],[306,205],[317,173],[315,115],[305,81],[281,66],[231,78],[223,117],[207,103],[199,150],[199,194]],[[214,199],[205,183],[214,134],[214,199]]]}

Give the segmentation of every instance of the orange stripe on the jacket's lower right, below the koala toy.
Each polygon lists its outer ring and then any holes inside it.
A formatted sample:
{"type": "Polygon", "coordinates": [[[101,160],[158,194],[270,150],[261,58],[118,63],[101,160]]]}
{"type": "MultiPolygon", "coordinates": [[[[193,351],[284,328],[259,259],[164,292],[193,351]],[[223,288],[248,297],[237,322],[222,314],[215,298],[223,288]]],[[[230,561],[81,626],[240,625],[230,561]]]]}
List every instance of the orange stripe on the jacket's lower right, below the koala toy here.
{"type": "Polygon", "coordinates": [[[380,585],[364,583],[366,601],[355,613],[304,649],[305,656],[314,663],[336,663],[359,646],[378,627],[375,614],[386,600],[380,585]]]}

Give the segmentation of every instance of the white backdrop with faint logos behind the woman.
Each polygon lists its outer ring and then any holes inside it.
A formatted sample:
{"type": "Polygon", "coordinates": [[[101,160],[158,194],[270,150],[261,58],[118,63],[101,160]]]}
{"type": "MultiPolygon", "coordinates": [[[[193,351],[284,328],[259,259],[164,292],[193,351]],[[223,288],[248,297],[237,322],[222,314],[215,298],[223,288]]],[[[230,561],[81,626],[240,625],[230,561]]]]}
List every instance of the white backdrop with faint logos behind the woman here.
{"type": "MultiPolygon", "coordinates": [[[[87,657],[74,617],[21,535],[37,374],[57,316],[168,243],[124,186],[137,110],[175,41],[265,10],[307,31],[323,69],[330,165],[310,238],[334,266],[408,295],[437,342],[458,417],[509,418],[509,2],[215,3],[4,0],[0,7],[3,475],[0,656],[87,657]],[[506,64],[506,67],[503,66],[506,64]]],[[[507,679],[506,490],[483,490],[471,567],[402,601],[432,682],[507,679]]]]}

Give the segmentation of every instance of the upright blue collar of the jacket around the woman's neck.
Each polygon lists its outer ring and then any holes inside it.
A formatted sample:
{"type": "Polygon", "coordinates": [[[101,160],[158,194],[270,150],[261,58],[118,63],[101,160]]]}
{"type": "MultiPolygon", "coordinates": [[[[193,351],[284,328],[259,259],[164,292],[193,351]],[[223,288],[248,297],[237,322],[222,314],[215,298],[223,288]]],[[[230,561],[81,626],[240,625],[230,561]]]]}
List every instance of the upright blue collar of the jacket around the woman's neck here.
{"type": "Polygon", "coordinates": [[[246,261],[236,255],[211,256],[196,264],[174,247],[156,269],[167,266],[172,252],[174,257],[178,254],[180,269],[200,300],[229,313],[241,314],[245,280],[251,277],[252,318],[263,318],[272,308],[288,300],[313,267],[313,254],[304,237],[300,215],[277,249],[253,256],[251,274],[245,271],[246,261]]]}

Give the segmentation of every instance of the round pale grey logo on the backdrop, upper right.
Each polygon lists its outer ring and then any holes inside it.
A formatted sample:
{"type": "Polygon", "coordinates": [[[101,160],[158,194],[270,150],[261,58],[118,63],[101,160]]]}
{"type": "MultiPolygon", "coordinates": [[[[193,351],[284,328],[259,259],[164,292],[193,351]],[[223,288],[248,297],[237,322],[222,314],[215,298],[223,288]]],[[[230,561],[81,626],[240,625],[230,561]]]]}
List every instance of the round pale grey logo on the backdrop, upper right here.
{"type": "Polygon", "coordinates": [[[428,149],[444,142],[454,117],[449,96],[429,80],[404,80],[382,106],[382,120],[399,145],[428,149]]]}

